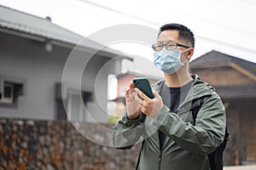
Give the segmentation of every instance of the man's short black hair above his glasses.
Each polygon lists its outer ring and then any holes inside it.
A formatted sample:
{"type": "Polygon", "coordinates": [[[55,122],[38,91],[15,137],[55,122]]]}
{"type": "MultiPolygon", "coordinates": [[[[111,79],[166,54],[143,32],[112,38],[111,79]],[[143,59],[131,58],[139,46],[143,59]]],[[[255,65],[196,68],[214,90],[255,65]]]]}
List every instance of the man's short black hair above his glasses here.
{"type": "Polygon", "coordinates": [[[185,42],[190,42],[192,47],[195,48],[195,37],[194,33],[189,30],[187,26],[183,26],[180,24],[166,24],[165,26],[160,27],[159,35],[162,31],[166,30],[177,30],[178,31],[178,38],[185,42]]]}

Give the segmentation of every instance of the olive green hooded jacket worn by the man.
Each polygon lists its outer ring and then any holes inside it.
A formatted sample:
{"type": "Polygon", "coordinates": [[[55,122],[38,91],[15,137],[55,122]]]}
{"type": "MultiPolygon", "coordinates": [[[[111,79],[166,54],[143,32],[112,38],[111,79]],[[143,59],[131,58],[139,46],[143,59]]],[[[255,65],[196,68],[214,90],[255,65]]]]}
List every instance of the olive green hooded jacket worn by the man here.
{"type": "MultiPolygon", "coordinates": [[[[143,116],[137,120],[128,120],[126,114],[113,126],[113,145],[119,149],[129,149],[143,137],[143,150],[138,169],[143,170],[210,170],[208,154],[224,140],[225,111],[224,105],[214,88],[201,81],[196,75],[193,86],[173,113],[165,105],[159,114],[152,118],[143,116]],[[195,119],[190,111],[183,112],[192,99],[204,97],[204,103],[195,119]],[[160,150],[157,130],[166,134],[160,150]]],[[[160,81],[152,87],[160,92],[160,81]]]]}

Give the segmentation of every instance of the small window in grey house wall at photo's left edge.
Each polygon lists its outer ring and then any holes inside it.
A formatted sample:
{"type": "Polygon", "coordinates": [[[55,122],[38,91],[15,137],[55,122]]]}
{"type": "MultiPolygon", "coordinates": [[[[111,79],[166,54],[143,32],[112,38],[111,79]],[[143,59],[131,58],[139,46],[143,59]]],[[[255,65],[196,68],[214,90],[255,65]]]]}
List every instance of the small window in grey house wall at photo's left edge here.
{"type": "Polygon", "coordinates": [[[0,94],[0,103],[14,104],[14,84],[3,83],[3,93],[0,94]]]}

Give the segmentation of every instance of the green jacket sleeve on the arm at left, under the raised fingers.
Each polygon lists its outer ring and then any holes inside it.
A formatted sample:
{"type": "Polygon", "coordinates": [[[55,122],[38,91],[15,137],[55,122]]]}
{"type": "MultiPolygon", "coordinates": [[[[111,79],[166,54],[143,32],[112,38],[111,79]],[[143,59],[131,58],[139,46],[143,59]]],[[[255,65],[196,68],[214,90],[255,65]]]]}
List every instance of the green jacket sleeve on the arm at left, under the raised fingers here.
{"type": "Polygon", "coordinates": [[[112,128],[113,147],[126,150],[136,144],[137,140],[143,134],[143,116],[139,116],[136,120],[129,120],[126,116],[122,116],[119,122],[115,123],[112,128]]]}

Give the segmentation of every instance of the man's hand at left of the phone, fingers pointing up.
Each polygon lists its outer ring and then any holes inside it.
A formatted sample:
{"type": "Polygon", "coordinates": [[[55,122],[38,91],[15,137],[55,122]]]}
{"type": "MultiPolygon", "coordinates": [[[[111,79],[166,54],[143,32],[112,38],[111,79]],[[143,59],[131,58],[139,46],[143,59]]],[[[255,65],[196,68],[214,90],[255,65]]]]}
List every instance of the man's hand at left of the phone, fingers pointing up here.
{"type": "Polygon", "coordinates": [[[137,117],[140,116],[141,110],[133,82],[130,82],[125,91],[125,102],[128,119],[137,119],[137,117]]]}

